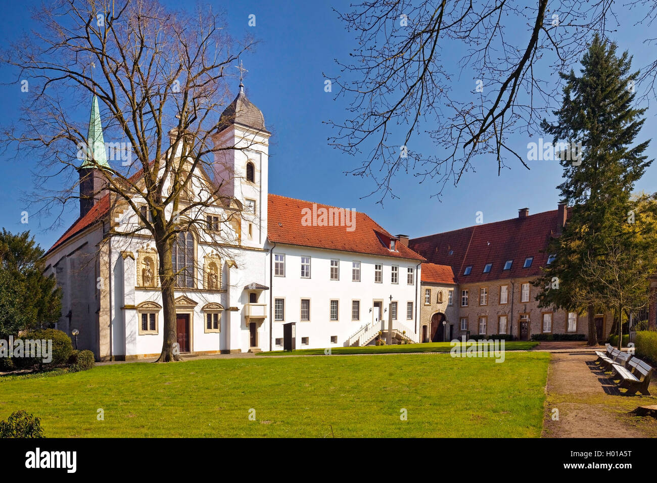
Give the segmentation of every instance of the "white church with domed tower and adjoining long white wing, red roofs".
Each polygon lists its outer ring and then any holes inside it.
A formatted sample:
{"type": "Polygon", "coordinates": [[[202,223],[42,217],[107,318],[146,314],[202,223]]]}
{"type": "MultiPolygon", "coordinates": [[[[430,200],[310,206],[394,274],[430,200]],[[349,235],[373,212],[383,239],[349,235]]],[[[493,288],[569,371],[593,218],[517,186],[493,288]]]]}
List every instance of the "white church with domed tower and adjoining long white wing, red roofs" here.
{"type": "MultiPolygon", "coordinates": [[[[206,223],[179,233],[172,254],[179,350],[282,350],[290,322],[297,349],[364,345],[387,329],[391,315],[396,337],[418,342],[424,258],[408,238],[363,213],[270,194],[270,133],[260,110],[240,91],[227,113],[233,121],[214,141],[243,149],[216,155],[210,175],[198,170],[187,196],[204,196],[223,180],[221,199],[229,201],[187,213],[206,223]]],[[[99,139],[94,99],[90,145],[99,139]]],[[[139,173],[133,179],[139,183],[139,173]]],[[[86,189],[97,188],[93,172],[87,181],[86,189]]],[[[136,196],[133,202],[140,205],[136,196]]],[[[80,349],[98,360],[160,354],[158,254],[125,200],[101,193],[81,201],[80,217],[45,258],[62,287],[58,329],[77,329],[80,349]]]]}

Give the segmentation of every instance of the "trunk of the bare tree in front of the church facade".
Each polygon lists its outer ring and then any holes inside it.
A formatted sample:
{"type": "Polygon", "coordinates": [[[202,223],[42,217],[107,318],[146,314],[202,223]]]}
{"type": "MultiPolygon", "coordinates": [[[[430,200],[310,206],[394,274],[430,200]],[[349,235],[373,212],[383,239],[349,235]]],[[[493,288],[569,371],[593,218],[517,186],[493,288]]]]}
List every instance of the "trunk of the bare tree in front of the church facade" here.
{"type": "Polygon", "coordinates": [[[175,281],[173,277],[173,238],[156,243],[160,256],[160,285],[162,286],[163,331],[162,354],[156,362],[180,361],[180,348],[177,344],[177,327],[175,322],[175,281]]]}

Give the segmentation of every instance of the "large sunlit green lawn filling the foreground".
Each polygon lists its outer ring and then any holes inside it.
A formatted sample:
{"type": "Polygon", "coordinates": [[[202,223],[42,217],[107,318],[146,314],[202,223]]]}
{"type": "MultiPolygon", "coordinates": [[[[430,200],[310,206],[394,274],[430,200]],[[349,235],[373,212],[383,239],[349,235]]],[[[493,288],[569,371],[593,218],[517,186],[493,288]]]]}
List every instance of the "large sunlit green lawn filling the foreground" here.
{"type": "Polygon", "coordinates": [[[125,363],[0,378],[0,419],[26,409],[45,436],[541,434],[549,354],[260,357],[125,363]],[[104,409],[104,421],[97,409],[104,409]],[[255,421],[250,421],[255,409],[255,421]],[[401,421],[401,410],[407,421],[401,421]],[[332,432],[331,432],[332,426],[332,432]]]}

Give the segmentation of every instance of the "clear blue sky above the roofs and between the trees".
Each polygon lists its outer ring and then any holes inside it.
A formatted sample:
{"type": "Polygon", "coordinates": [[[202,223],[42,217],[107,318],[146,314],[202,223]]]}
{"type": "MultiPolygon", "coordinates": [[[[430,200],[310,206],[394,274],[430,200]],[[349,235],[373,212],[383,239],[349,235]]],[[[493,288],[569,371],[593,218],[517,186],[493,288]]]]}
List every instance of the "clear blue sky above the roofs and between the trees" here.
{"type": "MultiPolygon", "coordinates": [[[[1,3],[7,4],[6,1],[1,3]]],[[[187,1],[171,3],[193,5],[187,1]]],[[[377,195],[361,199],[374,189],[373,181],[344,174],[359,165],[360,160],[329,147],[327,138],[331,131],[322,124],[330,118],[340,120],[348,115],[344,101],[334,101],[334,95],[325,93],[322,76],[322,72],[337,73],[334,58],[346,58],[355,43],[352,34],[344,30],[331,10],[331,7],[348,8],[348,1],[214,1],[212,4],[220,5],[227,12],[231,34],[240,37],[249,30],[261,41],[256,51],[242,60],[248,69],[244,81],[246,94],[263,112],[265,124],[273,131],[269,160],[271,193],[355,208],[369,214],[388,231],[411,237],[472,225],[478,211],[484,213],[487,223],[517,216],[518,208],[524,206],[530,208],[530,214],[556,209],[556,185],[562,173],[558,162],[533,162],[528,171],[519,162],[509,160],[511,169],[503,170],[498,177],[493,157],[480,158],[476,172],[466,173],[457,187],[449,185],[443,191],[442,200],[430,198],[436,193],[436,185],[430,181],[419,185],[411,175],[397,177],[394,189],[400,198],[386,200],[383,207],[376,204],[377,195]],[[254,28],[247,25],[249,14],[256,14],[254,28]]],[[[3,45],[18,32],[32,28],[27,9],[5,5],[2,11],[0,38],[3,45]]],[[[652,62],[654,46],[646,47],[641,43],[645,29],[634,28],[633,22],[623,17],[621,22],[614,39],[620,50],[627,49],[634,55],[633,67],[652,62]]],[[[520,41],[526,42],[526,32],[522,32],[520,41]]],[[[449,52],[443,55],[445,64],[455,64],[458,58],[449,58],[449,55],[449,52]]],[[[10,79],[6,66],[0,66],[0,72],[5,82],[10,79]]],[[[553,72],[545,72],[546,79],[551,76],[556,77],[553,72]]],[[[237,82],[235,91],[237,93],[237,82]]],[[[18,85],[0,85],[0,105],[5,120],[17,116],[19,102],[18,85]]],[[[88,106],[89,99],[80,99],[80,103],[88,106]]],[[[654,137],[657,126],[654,104],[648,110],[642,140],[654,137]]],[[[80,116],[88,119],[88,107],[81,110],[80,116]]],[[[514,139],[514,146],[525,152],[528,141],[519,137],[514,139]]],[[[429,152],[433,147],[427,142],[417,149],[429,152]]],[[[650,158],[657,158],[657,139],[651,143],[648,154],[650,158]]],[[[77,218],[79,208],[72,202],[62,218],[64,226],[55,231],[43,231],[43,226],[50,225],[52,220],[30,218],[30,223],[21,224],[20,214],[26,208],[19,198],[32,187],[30,170],[38,168],[29,159],[16,161],[0,156],[0,178],[5,188],[0,200],[0,225],[10,231],[30,229],[43,248],[49,248],[77,218]]],[[[656,191],[656,181],[657,162],[635,188],[656,191]]]]}

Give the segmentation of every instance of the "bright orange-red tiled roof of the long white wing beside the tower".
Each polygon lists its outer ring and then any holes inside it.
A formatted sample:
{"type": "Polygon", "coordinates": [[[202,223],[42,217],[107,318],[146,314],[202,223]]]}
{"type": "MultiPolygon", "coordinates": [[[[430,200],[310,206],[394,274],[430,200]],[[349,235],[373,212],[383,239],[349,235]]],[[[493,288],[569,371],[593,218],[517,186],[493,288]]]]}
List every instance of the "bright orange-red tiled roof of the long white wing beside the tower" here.
{"type": "MultiPolygon", "coordinates": [[[[269,204],[267,205],[267,237],[269,241],[343,252],[424,260],[399,242],[397,242],[397,251],[388,250],[390,239],[395,237],[364,213],[354,212],[354,229],[347,231],[344,226],[302,225],[304,213],[307,213],[304,212],[305,208],[312,212],[313,202],[269,195],[269,204]]],[[[316,210],[320,208],[334,207],[317,204],[316,210]]]]}

